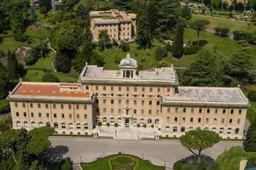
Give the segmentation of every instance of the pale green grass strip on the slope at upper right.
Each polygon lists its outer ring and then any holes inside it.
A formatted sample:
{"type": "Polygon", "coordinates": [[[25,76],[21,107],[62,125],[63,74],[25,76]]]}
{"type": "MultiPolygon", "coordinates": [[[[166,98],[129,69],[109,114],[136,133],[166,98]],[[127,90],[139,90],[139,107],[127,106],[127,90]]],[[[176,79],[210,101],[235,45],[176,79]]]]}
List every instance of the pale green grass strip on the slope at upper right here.
{"type": "MultiPolygon", "coordinates": [[[[235,30],[246,30],[246,23],[237,21],[237,20],[224,20],[224,19],[216,19],[212,18],[210,16],[201,16],[201,15],[192,15],[191,20],[209,20],[210,25],[207,27],[227,27],[230,28],[230,31],[235,31],[235,30]]],[[[251,32],[256,31],[256,26],[252,26],[252,29],[250,29],[251,32]]]]}

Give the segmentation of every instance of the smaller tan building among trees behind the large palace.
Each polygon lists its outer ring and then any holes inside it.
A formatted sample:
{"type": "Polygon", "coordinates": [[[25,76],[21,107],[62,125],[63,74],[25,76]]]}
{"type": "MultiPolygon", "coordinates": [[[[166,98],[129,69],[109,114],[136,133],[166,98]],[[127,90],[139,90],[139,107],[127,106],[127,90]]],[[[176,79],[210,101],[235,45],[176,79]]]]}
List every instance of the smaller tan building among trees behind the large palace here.
{"type": "Polygon", "coordinates": [[[110,39],[130,41],[136,36],[136,14],[126,14],[118,9],[90,11],[90,30],[98,42],[101,31],[108,31],[110,39]]]}

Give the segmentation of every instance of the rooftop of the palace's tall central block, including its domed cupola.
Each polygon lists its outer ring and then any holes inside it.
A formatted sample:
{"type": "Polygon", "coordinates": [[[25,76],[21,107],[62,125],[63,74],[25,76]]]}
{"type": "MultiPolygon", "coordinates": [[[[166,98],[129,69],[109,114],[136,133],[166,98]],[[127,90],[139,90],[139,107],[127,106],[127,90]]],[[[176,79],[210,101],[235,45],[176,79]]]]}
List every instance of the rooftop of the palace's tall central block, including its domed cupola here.
{"type": "Polygon", "coordinates": [[[137,60],[127,54],[125,59],[120,61],[119,68],[119,71],[113,71],[96,65],[85,65],[79,82],[155,82],[177,85],[177,75],[173,66],[155,68],[152,71],[137,71],[137,60]]]}

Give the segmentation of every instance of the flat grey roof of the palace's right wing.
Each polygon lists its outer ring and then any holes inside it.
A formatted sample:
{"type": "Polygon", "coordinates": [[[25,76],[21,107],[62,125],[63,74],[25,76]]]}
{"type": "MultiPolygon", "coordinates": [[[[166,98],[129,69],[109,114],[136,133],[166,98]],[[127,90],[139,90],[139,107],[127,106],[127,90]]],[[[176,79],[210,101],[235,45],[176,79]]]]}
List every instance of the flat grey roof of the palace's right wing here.
{"type": "Polygon", "coordinates": [[[177,94],[164,96],[165,101],[248,104],[240,88],[178,87],[177,94]]]}

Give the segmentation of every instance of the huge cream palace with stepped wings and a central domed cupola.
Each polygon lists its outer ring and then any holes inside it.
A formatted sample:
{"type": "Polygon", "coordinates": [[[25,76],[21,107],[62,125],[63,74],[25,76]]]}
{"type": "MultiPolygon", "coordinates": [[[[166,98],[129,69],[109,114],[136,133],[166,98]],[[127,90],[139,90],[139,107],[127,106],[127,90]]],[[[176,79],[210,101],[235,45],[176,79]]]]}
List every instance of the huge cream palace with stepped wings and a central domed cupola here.
{"type": "Polygon", "coordinates": [[[173,66],[138,71],[129,54],[119,71],[86,64],[78,83],[20,82],[9,100],[15,128],[84,135],[101,122],[165,137],[201,128],[242,139],[248,107],[240,88],[181,87],[173,66]]]}

